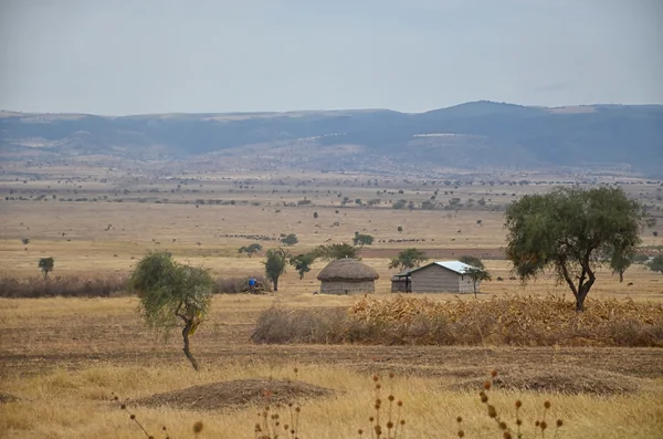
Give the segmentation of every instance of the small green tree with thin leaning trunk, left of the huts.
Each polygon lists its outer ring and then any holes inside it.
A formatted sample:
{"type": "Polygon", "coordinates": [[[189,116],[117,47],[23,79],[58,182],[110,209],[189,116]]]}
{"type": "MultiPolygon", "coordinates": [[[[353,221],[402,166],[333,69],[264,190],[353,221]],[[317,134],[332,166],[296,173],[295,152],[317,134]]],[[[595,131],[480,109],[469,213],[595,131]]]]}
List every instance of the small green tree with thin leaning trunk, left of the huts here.
{"type": "Polygon", "coordinates": [[[179,264],[168,252],[150,252],[138,262],[129,283],[138,293],[138,310],[148,327],[167,338],[178,318],[181,320],[182,351],[198,370],[189,337],[210,309],[214,281],[208,270],[179,264]]]}

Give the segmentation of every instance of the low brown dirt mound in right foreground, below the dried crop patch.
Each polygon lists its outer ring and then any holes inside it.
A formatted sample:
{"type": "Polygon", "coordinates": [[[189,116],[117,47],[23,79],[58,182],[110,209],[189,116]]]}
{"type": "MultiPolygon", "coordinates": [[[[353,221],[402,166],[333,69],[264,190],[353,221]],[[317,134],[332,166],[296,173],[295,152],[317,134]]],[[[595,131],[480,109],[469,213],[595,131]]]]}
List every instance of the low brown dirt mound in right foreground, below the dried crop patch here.
{"type": "MultiPolygon", "coordinates": [[[[486,378],[469,379],[452,389],[482,389],[486,378]]],[[[636,391],[642,380],[622,374],[596,369],[547,368],[541,370],[514,370],[498,375],[493,387],[506,390],[535,390],[560,394],[621,395],[636,391]]]]}

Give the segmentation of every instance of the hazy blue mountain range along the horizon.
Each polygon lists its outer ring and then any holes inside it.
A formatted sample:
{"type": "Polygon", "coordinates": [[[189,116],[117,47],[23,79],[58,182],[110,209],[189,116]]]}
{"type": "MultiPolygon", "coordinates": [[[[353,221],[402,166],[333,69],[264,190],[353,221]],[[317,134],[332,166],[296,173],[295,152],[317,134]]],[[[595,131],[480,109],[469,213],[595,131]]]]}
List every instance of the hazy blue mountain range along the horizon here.
{"type": "Polygon", "coordinates": [[[618,167],[662,175],[663,105],[548,108],[473,102],[419,114],[124,117],[0,112],[2,160],[99,155],[322,170],[618,167]]]}

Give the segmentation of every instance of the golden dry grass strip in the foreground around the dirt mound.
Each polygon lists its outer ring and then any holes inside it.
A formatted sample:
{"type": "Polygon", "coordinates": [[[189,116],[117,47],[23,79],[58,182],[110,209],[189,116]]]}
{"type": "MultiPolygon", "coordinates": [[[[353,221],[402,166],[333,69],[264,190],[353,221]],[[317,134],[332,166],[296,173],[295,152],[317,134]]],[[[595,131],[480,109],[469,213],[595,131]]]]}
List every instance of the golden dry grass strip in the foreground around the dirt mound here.
{"type": "MultiPolygon", "coordinates": [[[[277,367],[236,367],[194,374],[186,367],[102,366],[75,373],[53,372],[31,379],[3,384],[3,390],[21,398],[0,412],[0,436],[13,438],[137,438],[140,431],[128,416],[108,399],[115,391],[139,398],[191,385],[253,377],[290,377],[293,364],[284,359],[277,367]]],[[[339,395],[330,399],[302,401],[303,438],[356,437],[367,429],[372,414],[370,375],[323,365],[299,367],[299,376],[311,384],[333,387],[339,395]]],[[[462,415],[466,437],[496,437],[497,429],[478,401],[476,391],[443,390],[440,380],[397,377],[393,393],[404,403],[403,418],[409,438],[452,438],[455,418],[462,415]]],[[[564,437],[652,438],[663,428],[661,383],[631,396],[591,397],[585,395],[537,395],[493,390],[492,403],[502,412],[513,412],[515,399],[524,404],[522,417],[540,417],[543,401],[552,403],[551,418],[565,420],[564,437]]],[[[168,408],[130,406],[141,424],[156,433],[162,426],[171,437],[193,437],[193,422],[203,422],[203,438],[252,438],[255,411],[260,406],[199,412],[168,408]]],[[[507,415],[508,416],[508,415],[507,415]]],[[[534,426],[525,426],[530,432],[534,426]]]]}

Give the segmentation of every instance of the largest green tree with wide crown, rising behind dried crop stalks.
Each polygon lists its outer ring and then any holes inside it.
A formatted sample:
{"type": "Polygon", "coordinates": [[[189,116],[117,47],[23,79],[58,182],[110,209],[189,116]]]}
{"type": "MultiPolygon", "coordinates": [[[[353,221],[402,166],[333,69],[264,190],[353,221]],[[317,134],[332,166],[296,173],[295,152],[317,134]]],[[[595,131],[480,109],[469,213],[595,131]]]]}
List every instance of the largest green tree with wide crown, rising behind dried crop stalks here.
{"type": "Polygon", "coordinates": [[[598,265],[610,260],[604,255],[634,252],[643,218],[642,206],[621,188],[527,195],[506,210],[506,255],[523,281],[552,269],[581,312],[598,265]]]}

